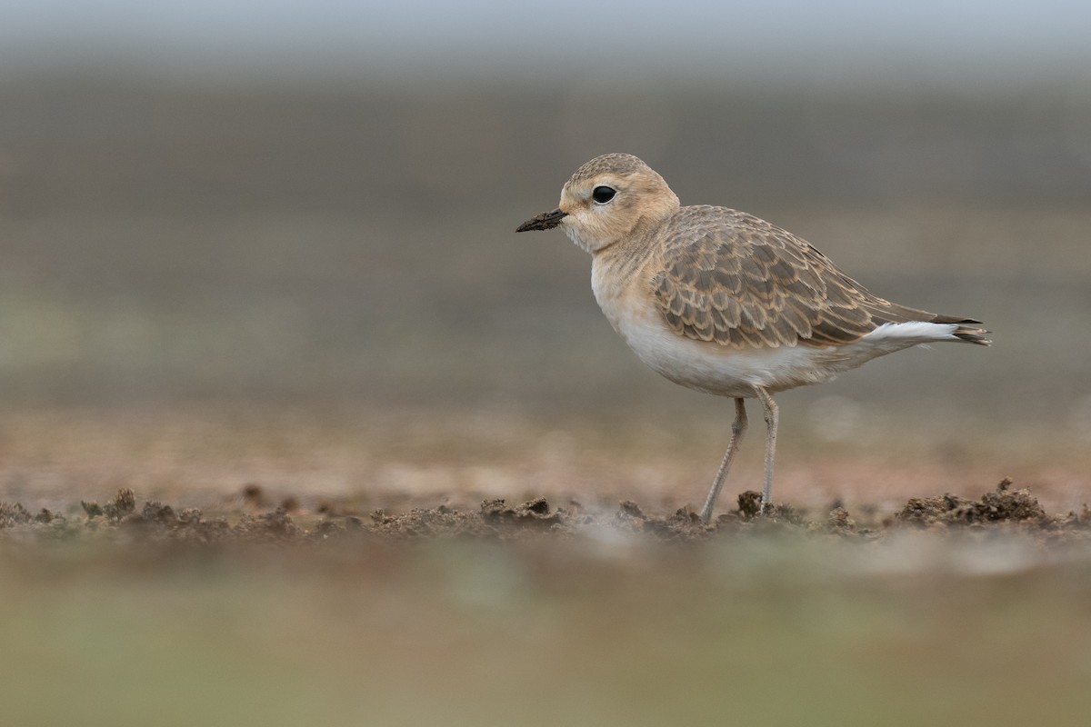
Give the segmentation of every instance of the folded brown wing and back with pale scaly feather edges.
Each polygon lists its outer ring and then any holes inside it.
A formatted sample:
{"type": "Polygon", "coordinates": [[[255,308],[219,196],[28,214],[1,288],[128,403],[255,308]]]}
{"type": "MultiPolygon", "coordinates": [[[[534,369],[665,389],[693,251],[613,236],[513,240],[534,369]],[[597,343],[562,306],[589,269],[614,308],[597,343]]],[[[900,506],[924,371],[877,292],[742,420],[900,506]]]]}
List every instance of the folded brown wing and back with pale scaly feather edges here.
{"type": "Polygon", "coordinates": [[[810,243],[745,213],[685,207],[668,234],[652,287],[668,325],[687,338],[837,346],[884,323],[956,323],[873,295],[810,243]]]}

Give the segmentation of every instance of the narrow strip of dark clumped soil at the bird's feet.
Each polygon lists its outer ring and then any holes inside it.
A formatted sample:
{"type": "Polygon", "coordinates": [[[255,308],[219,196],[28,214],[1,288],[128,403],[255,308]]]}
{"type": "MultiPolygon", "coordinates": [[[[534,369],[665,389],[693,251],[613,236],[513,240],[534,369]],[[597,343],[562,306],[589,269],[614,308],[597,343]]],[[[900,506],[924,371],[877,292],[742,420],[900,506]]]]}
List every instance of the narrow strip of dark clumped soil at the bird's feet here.
{"type": "Polygon", "coordinates": [[[1048,514],[1029,489],[1014,489],[1009,480],[978,500],[956,495],[913,498],[895,514],[866,514],[861,521],[842,507],[813,513],[774,504],[760,510],[760,496],[739,495],[735,509],[711,523],[682,508],[667,517],[650,516],[639,505],[623,501],[614,511],[591,511],[576,501],[554,507],[540,497],[518,505],[485,500],[477,509],[445,505],[363,516],[325,505],[317,512],[300,508],[295,498],[263,507],[262,493],[248,485],[241,493],[249,511],[206,514],[157,501],[137,506],[133,490],[121,489],[105,502],[82,501],[68,514],[41,509],[33,512],[19,502],[0,502],[0,537],[5,540],[105,538],[167,543],[214,544],[305,543],[338,538],[419,541],[423,538],[513,540],[572,538],[580,534],[614,532],[649,541],[693,543],[763,533],[803,534],[855,541],[879,541],[910,530],[931,532],[1019,532],[1046,544],[1091,541],[1091,510],[1048,514]]]}

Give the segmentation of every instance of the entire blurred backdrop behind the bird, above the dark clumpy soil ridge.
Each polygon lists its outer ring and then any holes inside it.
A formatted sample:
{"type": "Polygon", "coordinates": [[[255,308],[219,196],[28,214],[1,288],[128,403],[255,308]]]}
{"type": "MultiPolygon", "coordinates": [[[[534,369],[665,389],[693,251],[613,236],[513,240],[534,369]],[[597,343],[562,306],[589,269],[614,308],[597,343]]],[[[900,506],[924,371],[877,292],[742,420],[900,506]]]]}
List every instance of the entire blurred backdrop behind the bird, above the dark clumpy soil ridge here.
{"type": "Polygon", "coordinates": [[[782,395],[778,493],[1086,499],[1091,7],[671,8],[9,4],[0,499],[696,501],[730,403],[643,367],[563,234],[514,234],[608,152],[994,330],[782,395]]]}

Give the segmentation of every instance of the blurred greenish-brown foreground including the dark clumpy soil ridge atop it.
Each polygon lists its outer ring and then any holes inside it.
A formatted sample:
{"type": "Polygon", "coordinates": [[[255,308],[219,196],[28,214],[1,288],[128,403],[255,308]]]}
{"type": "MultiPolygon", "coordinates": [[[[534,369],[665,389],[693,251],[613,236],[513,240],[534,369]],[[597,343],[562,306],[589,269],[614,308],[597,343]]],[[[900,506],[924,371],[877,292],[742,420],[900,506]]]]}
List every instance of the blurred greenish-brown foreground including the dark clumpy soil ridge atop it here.
{"type": "Polygon", "coordinates": [[[8,507],[0,699],[21,725],[1075,726],[1089,533],[1014,490],[715,532],[544,502],[8,507]]]}

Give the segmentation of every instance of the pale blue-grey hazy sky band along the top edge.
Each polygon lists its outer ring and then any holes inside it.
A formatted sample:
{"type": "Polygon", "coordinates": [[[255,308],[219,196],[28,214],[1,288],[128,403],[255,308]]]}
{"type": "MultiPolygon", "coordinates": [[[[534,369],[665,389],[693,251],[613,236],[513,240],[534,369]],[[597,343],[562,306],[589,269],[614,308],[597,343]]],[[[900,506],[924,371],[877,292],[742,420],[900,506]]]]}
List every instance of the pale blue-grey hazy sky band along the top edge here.
{"type": "Polygon", "coordinates": [[[476,68],[554,72],[1086,73],[1091,2],[767,0],[360,2],[359,0],[23,0],[0,15],[0,58],[374,73],[476,68]],[[715,69],[722,72],[722,68],[715,69]]]}

